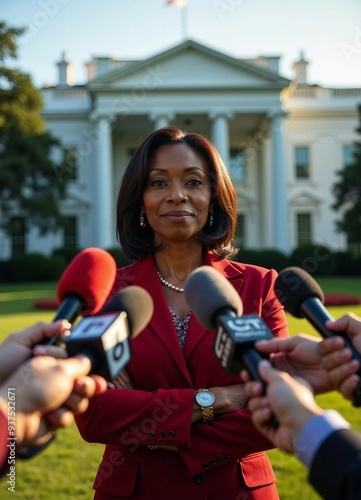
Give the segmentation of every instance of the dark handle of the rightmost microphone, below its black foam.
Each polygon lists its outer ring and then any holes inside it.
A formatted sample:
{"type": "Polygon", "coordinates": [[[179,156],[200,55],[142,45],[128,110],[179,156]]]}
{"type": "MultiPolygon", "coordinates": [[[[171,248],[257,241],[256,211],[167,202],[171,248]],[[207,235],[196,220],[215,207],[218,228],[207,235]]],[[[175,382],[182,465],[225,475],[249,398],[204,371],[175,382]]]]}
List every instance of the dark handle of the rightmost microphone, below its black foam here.
{"type": "MultiPolygon", "coordinates": [[[[352,357],[357,359],[361,365],[361,354],[355,349],[350,341],[346,332],[334,332],[326,327],[325,323],[328,320],[335,321],[335,319],[328,312],[326,307],[317,297],[311,297],[306,299],[301,305],[301,310],[307,318],[307,320],[311,323],[311,325],[318,331],[318,333],[324,339],[329,337],[342,337],[345,343],[345,347],[351,350],[352,357]]],[[[357,372],[360,377],[360,382],[354,389],[352,404],[359,408],[361,406],[361,368],[357,372]]]]}

